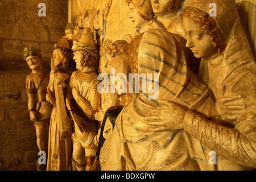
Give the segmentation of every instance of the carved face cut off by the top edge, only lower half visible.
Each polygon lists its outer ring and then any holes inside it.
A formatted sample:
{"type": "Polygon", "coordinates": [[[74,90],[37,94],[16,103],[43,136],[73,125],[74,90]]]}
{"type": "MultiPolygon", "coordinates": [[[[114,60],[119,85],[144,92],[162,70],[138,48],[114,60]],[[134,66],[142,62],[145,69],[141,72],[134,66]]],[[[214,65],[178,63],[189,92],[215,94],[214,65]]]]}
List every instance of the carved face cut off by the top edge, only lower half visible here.
{"type": "Polygon", "coordinates": [[[169,13],[169,1],[170,0],[151,0],[151,5],[154,13],[160,16],[169,13]]]}

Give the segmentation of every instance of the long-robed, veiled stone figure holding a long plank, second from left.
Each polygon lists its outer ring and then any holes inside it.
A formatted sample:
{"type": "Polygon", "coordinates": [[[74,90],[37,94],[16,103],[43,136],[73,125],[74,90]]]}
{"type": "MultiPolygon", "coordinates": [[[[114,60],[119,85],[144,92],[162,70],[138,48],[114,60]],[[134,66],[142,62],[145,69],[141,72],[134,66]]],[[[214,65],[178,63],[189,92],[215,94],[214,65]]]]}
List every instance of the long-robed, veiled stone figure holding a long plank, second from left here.
{"type": "Polygon", "coordinates": [[[67,100],[73,100],[73,97],[69,88],[70,54],[64,46],[59,41],[52,53],[52,68],[47,87],[49,101],[54,105],[49,125],[47,171],[71,170],[72,142],[69,127],[71,128],[72,122],[65,104],[67,100]]]}

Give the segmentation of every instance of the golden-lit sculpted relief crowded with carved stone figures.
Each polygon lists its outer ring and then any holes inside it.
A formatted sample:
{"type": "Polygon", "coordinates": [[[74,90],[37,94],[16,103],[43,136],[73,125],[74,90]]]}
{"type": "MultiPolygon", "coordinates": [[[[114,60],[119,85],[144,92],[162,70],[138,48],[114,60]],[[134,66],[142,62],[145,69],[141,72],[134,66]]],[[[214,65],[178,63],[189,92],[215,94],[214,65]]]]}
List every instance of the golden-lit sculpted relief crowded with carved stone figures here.
{"type": "MultiPolygon", "coordinates": [[[[256,64],[234,1],[72,1],[72,10],[47,73],[47,170],[256,168],[256,64]]],[[[40,56],[29,49],[32,69],[40,56]]]]}

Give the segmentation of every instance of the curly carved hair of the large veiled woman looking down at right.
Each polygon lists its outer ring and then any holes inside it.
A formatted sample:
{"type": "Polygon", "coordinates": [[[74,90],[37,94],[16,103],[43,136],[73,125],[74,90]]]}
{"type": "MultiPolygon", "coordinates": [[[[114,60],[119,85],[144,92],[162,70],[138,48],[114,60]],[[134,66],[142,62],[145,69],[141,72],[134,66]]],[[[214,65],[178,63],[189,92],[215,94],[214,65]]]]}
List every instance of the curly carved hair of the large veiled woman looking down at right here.
{"type": "Polygon", "coordinates": [[[186,7],[182,13],[182,16],[186,16],[196,23],[205,34],[210,36],[212,44],[218,49],[221,54],[224,53],[226,48],[226,40],[222,34],[220,28],[218,28],[215,20],[204,11],[195,7],[186,7]]]}

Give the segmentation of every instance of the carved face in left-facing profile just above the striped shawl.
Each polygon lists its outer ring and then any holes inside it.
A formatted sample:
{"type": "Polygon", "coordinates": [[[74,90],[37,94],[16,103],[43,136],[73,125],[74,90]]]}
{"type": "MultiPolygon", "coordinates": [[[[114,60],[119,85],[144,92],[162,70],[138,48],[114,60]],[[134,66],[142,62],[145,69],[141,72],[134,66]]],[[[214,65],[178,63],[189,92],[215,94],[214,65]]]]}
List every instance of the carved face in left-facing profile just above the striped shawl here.
{"type": "Polygon", "coordinates": [[[133,6],[132,3],[129,3],[129,18],[134,24],[134,27],[138,30],[141,30],[143,24],[146,22],[144,18],[139,14],[139,11],[133,6]]]}

